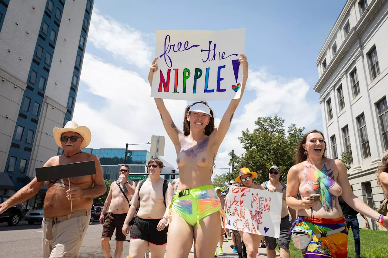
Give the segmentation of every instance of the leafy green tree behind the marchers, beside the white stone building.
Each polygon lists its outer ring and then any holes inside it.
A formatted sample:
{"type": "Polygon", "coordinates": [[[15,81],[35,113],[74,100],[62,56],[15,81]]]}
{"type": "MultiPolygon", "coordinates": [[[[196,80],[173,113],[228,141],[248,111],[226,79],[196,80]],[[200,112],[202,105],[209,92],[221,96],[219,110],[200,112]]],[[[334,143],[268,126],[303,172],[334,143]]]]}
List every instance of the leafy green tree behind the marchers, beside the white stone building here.
{"type": "Polygon", "coordinates": [[[251,132],[242,131],[242,136],[237,138],[242,143],[245,152],[241,156],[229,153],[229,165],[234,167],[228,176],[237,177],[242,167],[247,167],[258,176],[253,181],[261,184],[268,180],[268,169],[276,165],[282,172],[281,180],[287,181],[287,173],[294,165],[293,156],[298,144],[303,137],[304,127],[298,128],[291,124],[286,131],[284,119],[274,117],[259,117],[255,122],[256,128],[251,132]]]}

